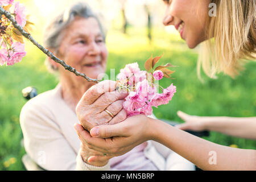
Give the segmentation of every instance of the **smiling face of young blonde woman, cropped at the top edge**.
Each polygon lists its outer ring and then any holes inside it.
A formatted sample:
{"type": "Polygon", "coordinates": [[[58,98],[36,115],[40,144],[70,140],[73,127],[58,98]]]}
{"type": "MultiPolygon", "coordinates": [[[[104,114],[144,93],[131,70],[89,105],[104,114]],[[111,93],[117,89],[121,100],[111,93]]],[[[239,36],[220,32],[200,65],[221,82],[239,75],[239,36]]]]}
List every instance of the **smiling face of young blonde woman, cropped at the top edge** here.
{"type": "Polygon", "coordinates": [[[173,25],[189,48],[206,39],[205,26],[210,0],[164,0],[167,5],[163,18],[165,26],[173,25]]]}

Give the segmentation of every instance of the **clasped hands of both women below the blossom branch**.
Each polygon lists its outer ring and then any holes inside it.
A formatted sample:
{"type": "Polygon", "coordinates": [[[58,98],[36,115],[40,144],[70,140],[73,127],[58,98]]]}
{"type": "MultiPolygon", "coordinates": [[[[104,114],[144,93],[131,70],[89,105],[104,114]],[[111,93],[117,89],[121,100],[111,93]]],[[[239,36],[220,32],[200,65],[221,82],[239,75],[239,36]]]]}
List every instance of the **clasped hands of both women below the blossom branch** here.
{"type": "Polygon", "coordinates": [[[115,90],[115,85],[115,81],[106,80],[92,86],[84,93],[76,107],[80,123],[75,125],[75,129],[81,140],[81,157],[85,163],[93,166],[105,166],[113,156],[125,154],[147,140],[147,137],[139,137],[144,134],[140,133],[139,129],[146,130],[146,122],[144,125],[136,123],[139,126],[138,134],[134,131],[131,137],[130,128],[135,125],[135,121],[146,120],[142,119],[146,116],[127,118],[122,106],[127,92],[115,90]],[[123,125],[114,125],[123,121],[123,125]],[[125,123],[129,123],[129,126],[125,123]],[[102,132],[96,127],[100,125],[106,126],[105,129],[101,128],[102,132]]]}

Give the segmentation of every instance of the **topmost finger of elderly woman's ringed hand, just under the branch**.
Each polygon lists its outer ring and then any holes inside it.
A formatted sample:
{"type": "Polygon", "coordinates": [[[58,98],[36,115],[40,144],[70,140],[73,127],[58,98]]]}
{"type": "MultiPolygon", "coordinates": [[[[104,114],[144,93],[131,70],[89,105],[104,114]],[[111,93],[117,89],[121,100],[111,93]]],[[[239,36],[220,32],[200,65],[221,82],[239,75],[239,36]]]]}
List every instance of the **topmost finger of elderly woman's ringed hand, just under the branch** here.
{"type": "Polygon", "coordinates": [[[79,105],[90,105],[94,101],[97,100],[102,94],[106,92],[112,92],[115,90],[116,82],[112,80],[104,80],[99,82],[96,85],[93,85],[89,88],[84,95],[82,96],[81,100],[79,101],[79,105]]]}

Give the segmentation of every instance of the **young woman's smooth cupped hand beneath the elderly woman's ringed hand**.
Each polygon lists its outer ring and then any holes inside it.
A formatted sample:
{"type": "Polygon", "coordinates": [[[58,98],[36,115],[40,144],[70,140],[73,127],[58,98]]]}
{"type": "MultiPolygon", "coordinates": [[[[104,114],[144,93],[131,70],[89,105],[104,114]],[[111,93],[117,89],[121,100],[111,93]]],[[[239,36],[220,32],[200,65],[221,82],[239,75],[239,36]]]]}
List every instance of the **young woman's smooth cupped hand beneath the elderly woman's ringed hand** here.
{"type": "MultiPolygon", "coordinates": [[[[115,125],[101,125],[88,131],[80,131],[81,138],[91,150],[107,154],[112,158],[126,154],[135,146],[152,139],[154,130],[150,125],[151,118],[135,115],[115,125]],[[92,137],[93,136],[93,137],[92,137]],[[112,137],[112,138],[110,138],[112,137]]],[[[102,160],[102,156],[93,156],[94,160],[102,160]]]]}

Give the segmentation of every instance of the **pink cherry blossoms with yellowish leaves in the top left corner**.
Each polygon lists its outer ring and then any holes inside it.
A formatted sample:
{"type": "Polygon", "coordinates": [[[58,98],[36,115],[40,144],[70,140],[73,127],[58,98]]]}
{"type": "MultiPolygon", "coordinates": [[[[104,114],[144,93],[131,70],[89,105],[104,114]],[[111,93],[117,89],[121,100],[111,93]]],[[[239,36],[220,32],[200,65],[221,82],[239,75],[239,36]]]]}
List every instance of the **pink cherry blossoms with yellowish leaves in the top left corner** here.
{"type": "MultiPolygon", "coordinates": [[[[26,28],[25,6],[14,0],[0,0],[0,6],[9,11],[20,26],[26,28]]],[[[19,63],[26,55],[23,38],[5,15],[0,19],[0,36],[0,65],[19,63]]]]}

